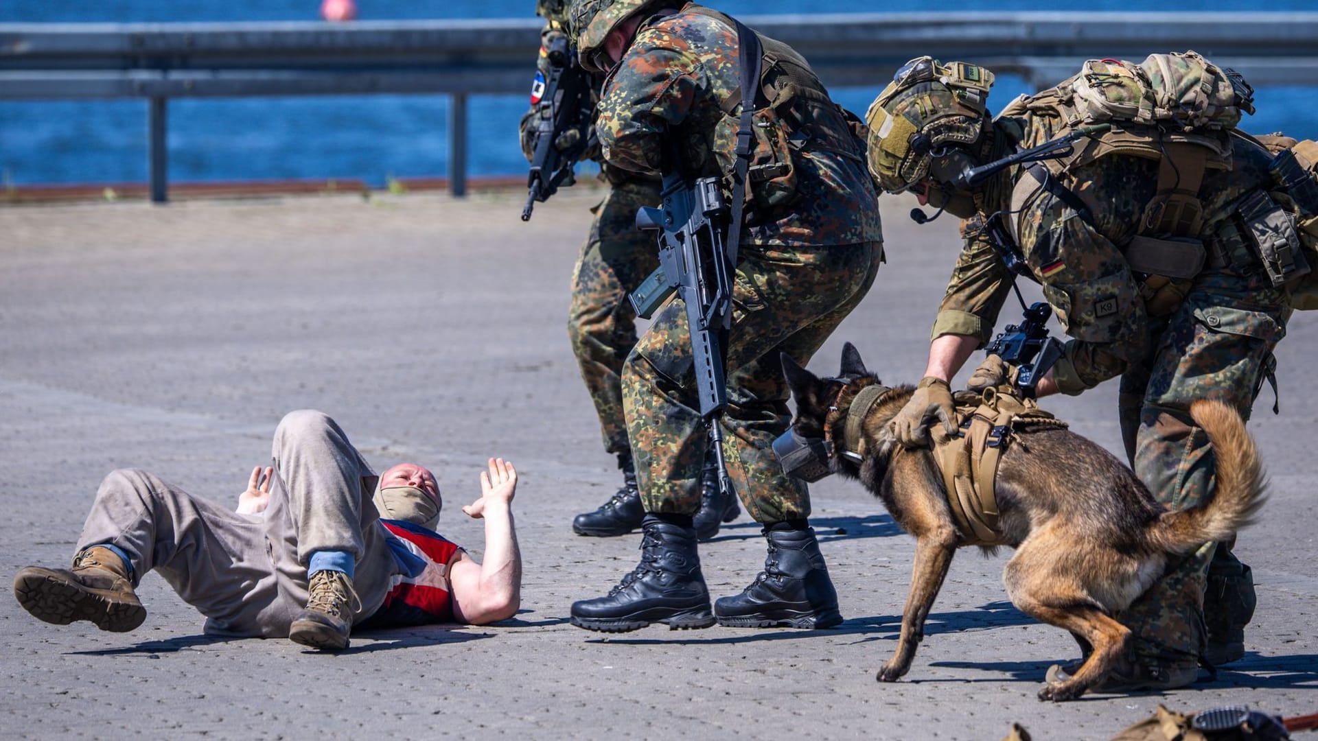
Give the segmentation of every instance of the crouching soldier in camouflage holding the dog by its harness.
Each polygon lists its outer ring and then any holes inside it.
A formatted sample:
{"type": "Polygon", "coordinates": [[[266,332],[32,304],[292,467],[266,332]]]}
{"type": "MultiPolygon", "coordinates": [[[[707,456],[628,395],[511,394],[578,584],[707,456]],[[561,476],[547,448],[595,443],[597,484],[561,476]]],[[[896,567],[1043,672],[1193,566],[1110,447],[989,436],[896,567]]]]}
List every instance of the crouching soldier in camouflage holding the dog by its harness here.
{"type": "MultiPolygon", "coordinates": [[[[1156,160],[1106,156],[1053,178],[1050,187],[1021,165],[969,190],[933,175],[948,171],[940,158],[992,162],[1054,138],[1064,125],[1044,104],[1044,96],[1061,88],[1023,96],[990,120],[987,84],[978,91],[945,84],[942,75],[956,65],[912,61],[875,100],[867,121],[870,170],[880,186],[913,190],[921,204],[963,219],[963,247],[933,324],[925,377],[896,418],[895,432],[904,444],[928,444],[928,426],[950,417],[948,381],[988,340],[1014,282],[986,231],[991,219],[1002,219],[1072,338],[1040,382],[1040,396],[1078,394],[1120,376],[1122,432],[1135,472],[1170,508],[1206,501],[1214,455],[1189,405],[1218,397],[1248,418],[1289,316],[1284,291],[1273,287],[1239,228],[1242,200],[1272,185],[1269,152],[1247,136],[1230,136],[1230,167],[1209,170],[1198,191],[1203,225],[1191,236],[1203,241],[1206,262],[1193,278],[1168,282],[1131,266],[1137,249],[1132,237],[1155,202],[1156,160]]],[[[1177,166],[1181,154],[1169,152],[1177,166]]],[[[1190,163],[1180,167],[1189,171],[1190,163]]],[[[1116,616],[1135,641],[1104,688],[1180,687],[1197,679],[1201,655],[1211,663],[1239,659],[1252,613],[1248,567],[1226,543],[1207,543],[1169,566],[1160,583],[1116,616]]],[[[1066,668],[1053,667],[1049,679],[1062,679],[1054,674],[1066,668]]]]}

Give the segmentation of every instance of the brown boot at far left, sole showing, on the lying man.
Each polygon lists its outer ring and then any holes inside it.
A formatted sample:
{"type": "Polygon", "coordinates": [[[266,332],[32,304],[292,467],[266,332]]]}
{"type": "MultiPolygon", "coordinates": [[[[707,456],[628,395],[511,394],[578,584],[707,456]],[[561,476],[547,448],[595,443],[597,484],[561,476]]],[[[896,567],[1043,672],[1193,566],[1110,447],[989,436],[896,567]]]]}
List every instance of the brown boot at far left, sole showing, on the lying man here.
{"type": "Polygon", "coordinates": [[[13,596],[33,617],[55,625],[88,620],[101,630],[128,633],[146,620],[128,564],[100,546],[75,555],[72,571],[38,566],[18,571],[13,596]]]}

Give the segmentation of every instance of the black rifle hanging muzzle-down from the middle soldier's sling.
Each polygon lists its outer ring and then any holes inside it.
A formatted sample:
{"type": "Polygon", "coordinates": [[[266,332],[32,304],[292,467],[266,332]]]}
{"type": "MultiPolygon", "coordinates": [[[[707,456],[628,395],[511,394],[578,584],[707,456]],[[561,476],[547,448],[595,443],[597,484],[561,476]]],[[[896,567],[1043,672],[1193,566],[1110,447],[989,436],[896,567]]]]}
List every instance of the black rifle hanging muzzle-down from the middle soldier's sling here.
{"type": "MultiPolygon", "coordinates": [[[[671,142],[672,137],[668,138],[671,142]]],[[[638,229],[659,232],[659,269],[629,298],[642,319],[650,319],[673,293],[687,307],[700,415],[709,430],[709,443],[718,459],[720,488],[726,496],[733,489],[724,464],[722,429],[716,419],[728,406],[725,364],[737,262],[726,243],[730,215],[718,178],[688,181],[681,175],[676,145],[667,146],[663,171],[660,206],[637,212],[638,229]]]]}

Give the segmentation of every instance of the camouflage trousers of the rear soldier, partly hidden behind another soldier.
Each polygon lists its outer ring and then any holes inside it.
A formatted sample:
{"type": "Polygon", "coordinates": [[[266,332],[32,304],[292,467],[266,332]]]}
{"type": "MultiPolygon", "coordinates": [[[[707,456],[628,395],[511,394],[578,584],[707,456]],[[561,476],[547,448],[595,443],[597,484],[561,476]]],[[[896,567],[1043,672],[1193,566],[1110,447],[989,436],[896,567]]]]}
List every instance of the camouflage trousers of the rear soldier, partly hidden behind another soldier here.
{"type": "Polygon", "coordinates": [[[659,203],[659,183],[626,182],[593,208],[590,235],[572,270],[568,338],[581,380],[600,415],[608,452],[627,450],[622,421],[622,363],[637,344],[637,315],[627,293],[659,266],[654,233],[635,227],[637,210],[659,203]]]}

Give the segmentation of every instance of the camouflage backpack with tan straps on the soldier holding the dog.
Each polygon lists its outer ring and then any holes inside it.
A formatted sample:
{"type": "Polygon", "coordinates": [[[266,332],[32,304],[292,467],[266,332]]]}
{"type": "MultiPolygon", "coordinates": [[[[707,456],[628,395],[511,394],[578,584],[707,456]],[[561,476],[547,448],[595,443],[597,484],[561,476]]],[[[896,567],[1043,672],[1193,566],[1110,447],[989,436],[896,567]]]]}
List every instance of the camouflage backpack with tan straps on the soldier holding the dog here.
{"type": "MultiPolygon", "coordinates": [[[[1079,127],[1110,124],[1081,138],[1072,154],[1046,167],[1065,181],[1070,170],[1124,154],[1159,162],[1157,191],[1145,206],[1136,236],[1124,245],[1153,315],[1173,310],[1206,260],[1201,240],[1244,243],[1259,256],[1296,309],[1318,309],[1318,145],[1255,140],[1236,129],[1253,112],[1253,88],[1194,51],[1151,54],[1143,63],[1089,61],[1079,74],[1032,98],[1016,99],[1003,116],[1031,113],[1061,119],[1058,136],[1079,127]],[[1231,219],[1205,224],[1199,186],[1209,170],[1231,169],[1232,137],[1269,148],[1273,183],[1248,194],[1231,219]],[[1207,227],[1207,228],[1206,228],[1207,227]],[[1211,235],[1205,232],[1211,231],[1211,235]]],[[[1035,191],[1023,179],[1017,198],[1035,191]]]]}

